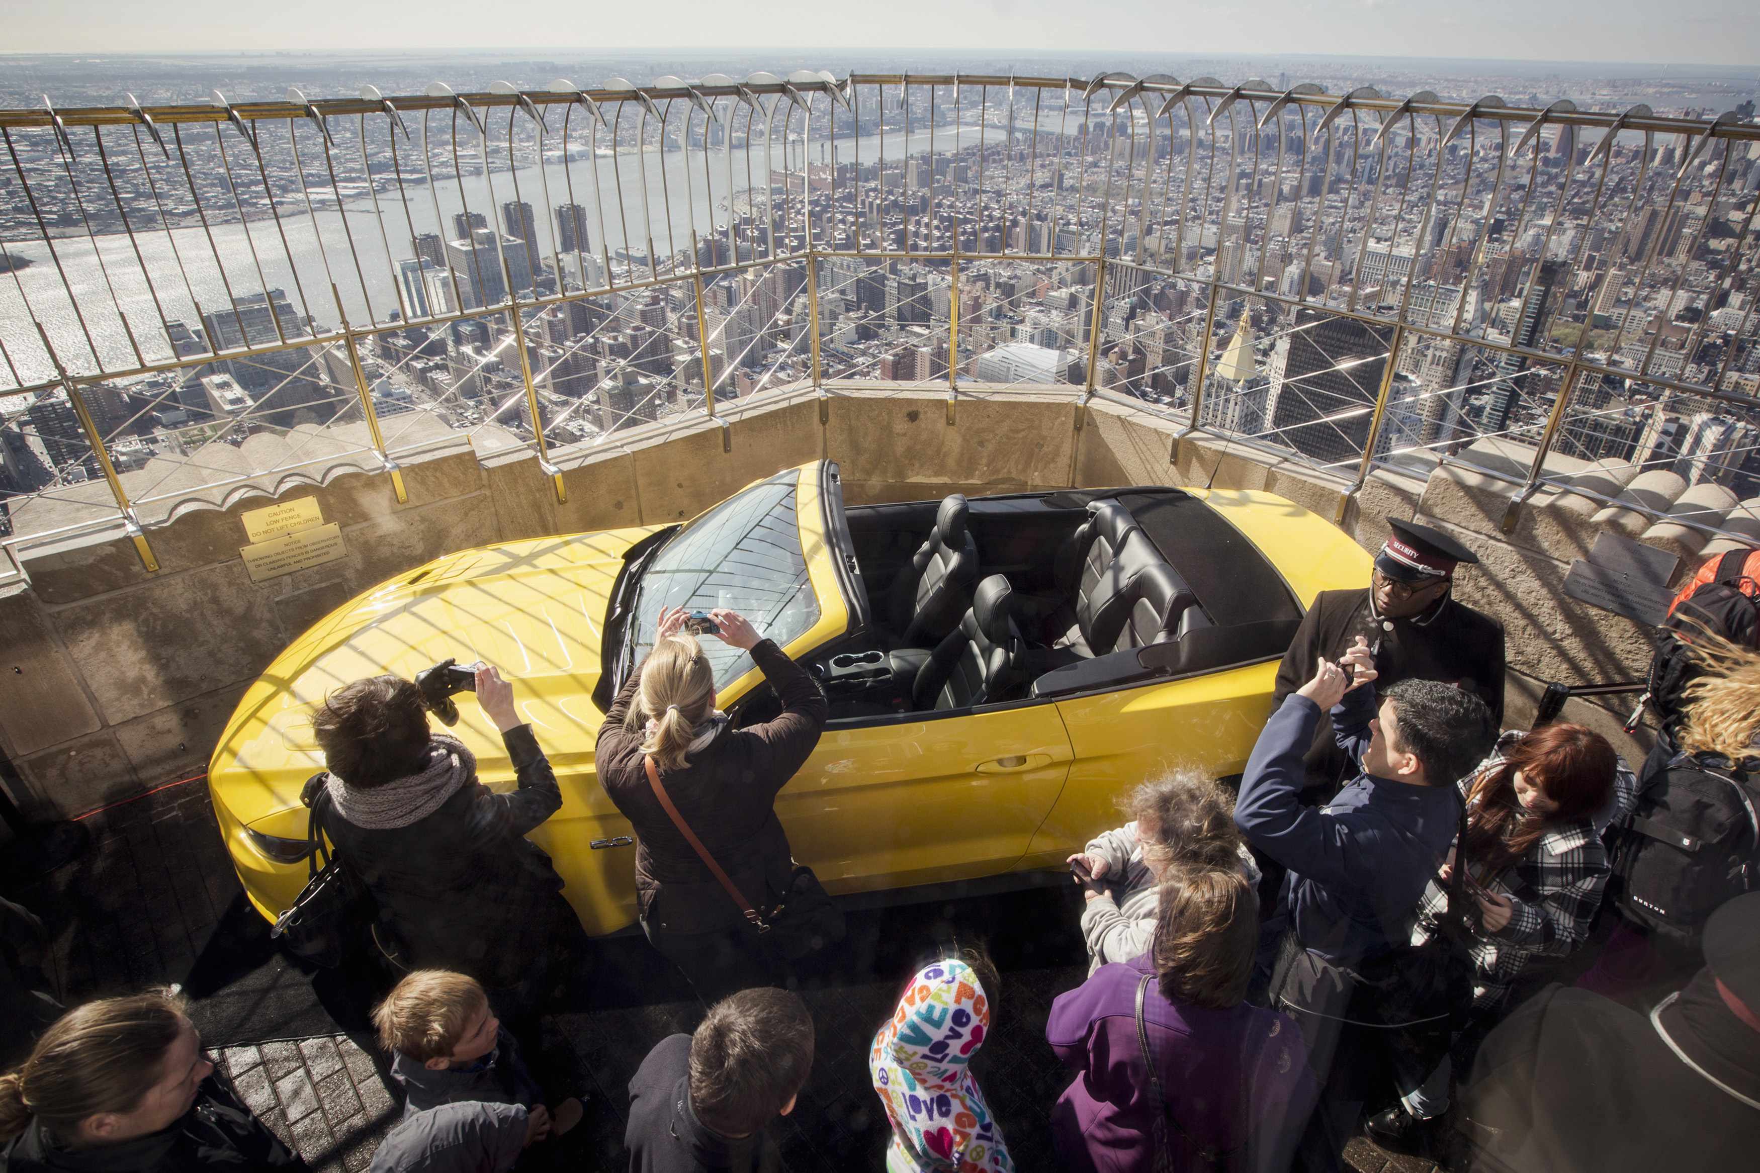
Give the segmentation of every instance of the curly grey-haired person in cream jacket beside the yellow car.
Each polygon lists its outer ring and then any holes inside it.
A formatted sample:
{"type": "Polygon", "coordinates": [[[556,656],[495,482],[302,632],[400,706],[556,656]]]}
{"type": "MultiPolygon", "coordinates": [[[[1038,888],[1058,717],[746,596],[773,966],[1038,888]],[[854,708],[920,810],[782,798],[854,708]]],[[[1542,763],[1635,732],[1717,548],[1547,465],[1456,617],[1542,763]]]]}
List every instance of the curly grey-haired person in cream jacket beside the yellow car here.
{"type": "Polygon", "coordinates": [[[1216,867],[1236,860],[1248,881],[1258,883],[1258,867],[1234,825],[1234,800],[1207,774],[1163,774],[1130,791],[1119,809],[1132,821],[1100,832],[1068,860],[1088,899],[1082,936],[1089,976],[1107,962],[1128,962],[1149,950],[1162,874],[1174,860],[1216,867]]]}

